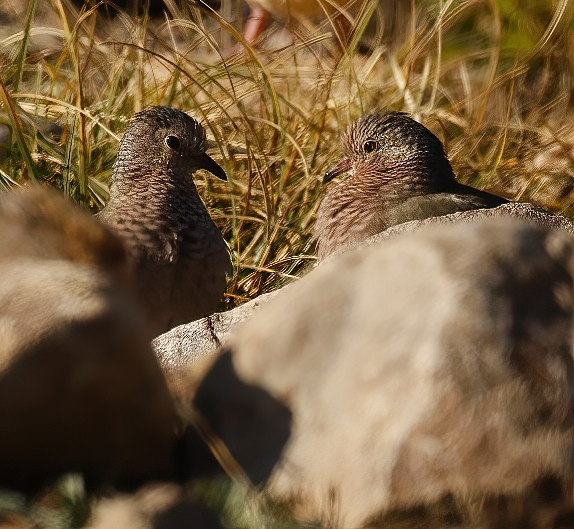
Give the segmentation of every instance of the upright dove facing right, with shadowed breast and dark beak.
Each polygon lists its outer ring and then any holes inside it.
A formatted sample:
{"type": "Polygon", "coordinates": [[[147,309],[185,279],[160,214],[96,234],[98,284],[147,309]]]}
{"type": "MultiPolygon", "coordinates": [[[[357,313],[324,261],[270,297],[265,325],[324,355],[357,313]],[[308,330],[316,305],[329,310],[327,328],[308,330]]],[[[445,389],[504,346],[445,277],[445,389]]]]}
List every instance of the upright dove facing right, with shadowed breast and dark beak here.
{"type": "Polygon", "coordinates": [[[206,153],[205,130],[173,108],[136,114],[119,147],[98,217],[125,243],[151,337],[213,313],[232,273],[230,252],[193,173],[227,175],[206,153]]]}

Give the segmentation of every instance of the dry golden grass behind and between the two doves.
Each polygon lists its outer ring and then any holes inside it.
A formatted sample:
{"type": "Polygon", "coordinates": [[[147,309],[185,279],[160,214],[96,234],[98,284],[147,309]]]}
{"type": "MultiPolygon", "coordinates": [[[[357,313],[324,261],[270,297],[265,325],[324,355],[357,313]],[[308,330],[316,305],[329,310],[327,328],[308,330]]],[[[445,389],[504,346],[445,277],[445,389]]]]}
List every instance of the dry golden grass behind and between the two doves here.
{"type": "Polygon", "coordinates": [[[40,181],[96,211],[130,116],[189,112],[230,176],[196,176],[234,255],[226,306],[313,264],[320,178],[340,132],[375,108],[431,127],[459,180],[574,216],[572,1],[357,0],[344,52],[329,20],[255,50],[231,0],[231,22],[182,4],[110,21],[103,3],[2,3],[1,188],[40,181]]]}

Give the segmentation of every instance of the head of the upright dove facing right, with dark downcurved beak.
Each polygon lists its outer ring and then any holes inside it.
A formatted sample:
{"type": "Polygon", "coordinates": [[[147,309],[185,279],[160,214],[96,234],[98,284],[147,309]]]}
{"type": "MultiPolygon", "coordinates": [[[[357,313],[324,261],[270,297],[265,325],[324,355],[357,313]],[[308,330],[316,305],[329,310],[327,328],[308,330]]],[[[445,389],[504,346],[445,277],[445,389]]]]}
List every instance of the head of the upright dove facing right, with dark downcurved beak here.
{"type": "Polygon", "coordinates": [[[177,178],[205,169],[227,181],[225,171],[205,153],[206,148],[205,130],[195,119],[174,108],[148,108],[136,114],[127,128],[114,173],[138,179],[168,172],[177,178]]]}

